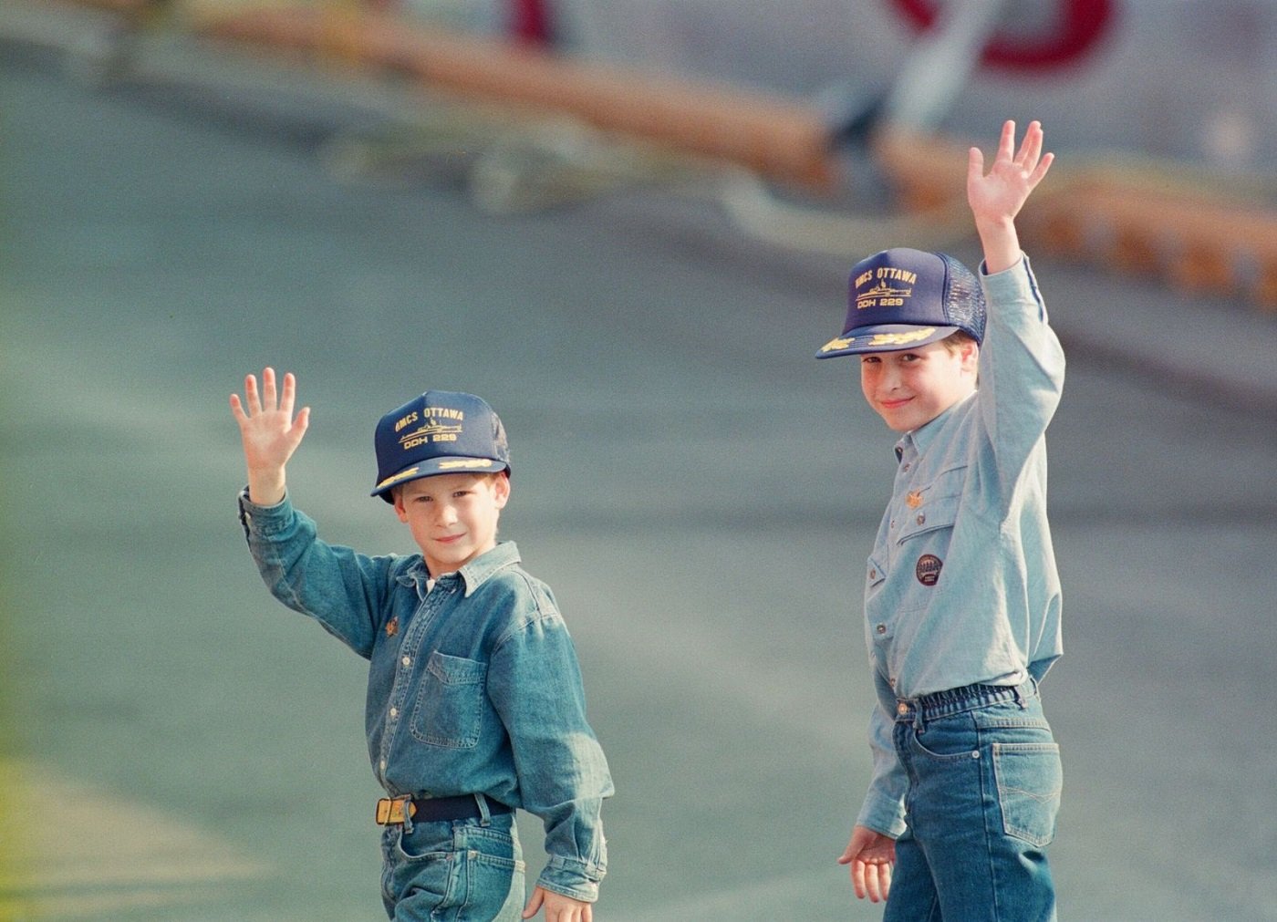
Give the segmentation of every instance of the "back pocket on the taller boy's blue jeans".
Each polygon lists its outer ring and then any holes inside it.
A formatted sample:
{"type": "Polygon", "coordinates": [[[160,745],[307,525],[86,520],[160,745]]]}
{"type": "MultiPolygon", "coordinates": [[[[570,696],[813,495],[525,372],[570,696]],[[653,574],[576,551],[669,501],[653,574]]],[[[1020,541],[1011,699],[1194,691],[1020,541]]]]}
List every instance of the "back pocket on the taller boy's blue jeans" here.
{"type": "Polygon", "coordinates": [[[1002,830],[1043,848],[1055,838],[1064,769],[1056,743],[994,743],[1002,830]]]}

